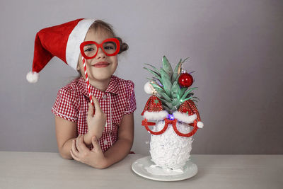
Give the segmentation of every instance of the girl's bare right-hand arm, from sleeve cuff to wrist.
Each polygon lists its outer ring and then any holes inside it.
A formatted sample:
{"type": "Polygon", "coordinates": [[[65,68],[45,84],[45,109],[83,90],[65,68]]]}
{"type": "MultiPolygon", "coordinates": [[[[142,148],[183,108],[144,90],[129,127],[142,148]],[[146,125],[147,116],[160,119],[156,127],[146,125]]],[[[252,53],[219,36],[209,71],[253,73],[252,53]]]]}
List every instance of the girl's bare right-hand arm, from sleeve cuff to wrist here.
{"type": "Polygon", "coordinates": [[[134,113],[124,115],[118,129],[118,139],[115,144],[105,151],[105,168],[115,164],[129,154],[134,142],[134,113]]]}

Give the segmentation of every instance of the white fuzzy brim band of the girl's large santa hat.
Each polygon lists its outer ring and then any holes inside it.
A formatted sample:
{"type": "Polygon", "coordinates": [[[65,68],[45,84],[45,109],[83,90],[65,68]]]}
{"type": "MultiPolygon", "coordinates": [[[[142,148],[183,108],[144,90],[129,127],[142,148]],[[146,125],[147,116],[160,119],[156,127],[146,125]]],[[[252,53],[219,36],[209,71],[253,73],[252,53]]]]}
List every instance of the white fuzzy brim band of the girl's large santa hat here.
{"type": "Polygon", "coordinates": [[[96,19],[83,19],[79,21],[76,27],[71,31],[69,35],[67,47],[66,47],[66,61],[67,64],[76,70],[76,66],[79,60],[81,42],[86,38],[88,28],[96,19]]]}

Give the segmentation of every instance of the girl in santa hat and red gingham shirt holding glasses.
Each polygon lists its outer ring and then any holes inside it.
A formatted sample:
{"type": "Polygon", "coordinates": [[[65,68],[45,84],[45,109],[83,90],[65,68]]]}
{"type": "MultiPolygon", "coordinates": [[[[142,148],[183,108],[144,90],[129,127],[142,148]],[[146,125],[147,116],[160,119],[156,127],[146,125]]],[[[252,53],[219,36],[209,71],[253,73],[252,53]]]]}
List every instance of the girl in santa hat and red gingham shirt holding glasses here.
{"type": "Polygon", "coordinates": [[[37,81],[38,72],[54,55],[81,73],[59,90],[52,108],[64,159],[107,168],[129,154],[134,139],[134,83],[113,75],[117,54],[125,50],[127,44],[99,20],[78,19],[37,33],[33,72],[27,75],[30,82],[37,81]],[[42,54],[47,60],[42,61],[42,54]]]}

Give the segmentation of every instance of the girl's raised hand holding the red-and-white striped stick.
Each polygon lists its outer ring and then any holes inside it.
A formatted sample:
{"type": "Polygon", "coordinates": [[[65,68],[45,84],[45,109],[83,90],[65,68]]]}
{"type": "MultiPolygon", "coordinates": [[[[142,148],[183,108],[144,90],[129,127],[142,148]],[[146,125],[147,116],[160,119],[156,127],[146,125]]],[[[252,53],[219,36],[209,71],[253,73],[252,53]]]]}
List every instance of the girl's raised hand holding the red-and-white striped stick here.
{"type": "Polygon", "coordinates": [[[100,108],[100,105],[98,103],[98,100],[93,96],[93,102],[95,106],[95,115],[93,115],[93,105],[91,103],[88,103],[88,132],[91,132],[91,136],[95,135],[97,139],[99,139],[102,135],[102,132],[104,130],[105,124],[106,124],[106,115],[103,113],[103,110],[100,108]]]}

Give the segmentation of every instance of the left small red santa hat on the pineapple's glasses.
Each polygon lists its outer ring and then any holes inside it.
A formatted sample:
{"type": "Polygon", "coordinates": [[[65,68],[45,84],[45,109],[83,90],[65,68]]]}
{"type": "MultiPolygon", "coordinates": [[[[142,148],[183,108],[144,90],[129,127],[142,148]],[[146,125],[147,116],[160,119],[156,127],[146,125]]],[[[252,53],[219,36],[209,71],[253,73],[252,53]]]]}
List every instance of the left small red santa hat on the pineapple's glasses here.
{"type": "Polygon", "coordinates": [[[167,118],[168,112],[163,110],[161,100],[153,95],[149,97],[141,115],[143,115],[146,120],[163,120],[167,118]]]}

